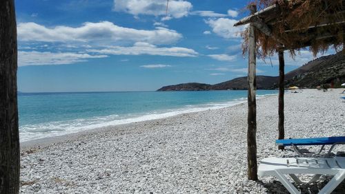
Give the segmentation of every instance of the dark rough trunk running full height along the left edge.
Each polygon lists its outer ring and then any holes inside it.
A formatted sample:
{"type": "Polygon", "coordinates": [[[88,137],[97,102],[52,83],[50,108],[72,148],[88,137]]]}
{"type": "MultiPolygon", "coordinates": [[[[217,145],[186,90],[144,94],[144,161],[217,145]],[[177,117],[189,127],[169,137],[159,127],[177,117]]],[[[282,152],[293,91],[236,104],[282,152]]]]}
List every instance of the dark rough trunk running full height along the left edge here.
{"type": "Polygon", "coordinates": [[[0,193],[19,193],[17,23],[13,0],[0,1],[0,193]]]}

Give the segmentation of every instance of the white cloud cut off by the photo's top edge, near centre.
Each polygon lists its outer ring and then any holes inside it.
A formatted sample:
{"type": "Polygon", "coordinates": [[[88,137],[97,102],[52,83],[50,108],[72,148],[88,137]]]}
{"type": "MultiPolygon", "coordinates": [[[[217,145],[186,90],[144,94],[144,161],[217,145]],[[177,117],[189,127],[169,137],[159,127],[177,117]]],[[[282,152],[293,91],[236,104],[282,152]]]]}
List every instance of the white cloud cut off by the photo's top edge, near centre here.
{"type": "MultiPolygon", "coordinates": [[[[133,15],[161,16],[166,15],[166,6],[166,0],[114,0],[113,10],[133,15]]],[[[192,7],[192,3],[188,1],[170,0],[168,3],[168,15],[173,18],[185,17],[192,7]]]]}

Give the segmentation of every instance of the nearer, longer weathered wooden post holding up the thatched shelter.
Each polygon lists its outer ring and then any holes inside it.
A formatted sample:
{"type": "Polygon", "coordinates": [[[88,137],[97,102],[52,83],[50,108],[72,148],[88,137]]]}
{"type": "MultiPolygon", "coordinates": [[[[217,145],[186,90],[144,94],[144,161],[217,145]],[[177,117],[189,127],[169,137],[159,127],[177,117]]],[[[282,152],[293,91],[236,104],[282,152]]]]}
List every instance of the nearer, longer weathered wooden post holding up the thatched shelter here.
{"type": "MultiPolygon", "coordinates": [[[[249,7],[250,13],[257,11],[256,5],[249,7]]],[[[257,180],[257,105],[256,105],[256,37],[255,27],[249,25],[249,47],[248,47],[248,133],[247,133],[247,158],[248,158],[248,179],[257,180]]]]}

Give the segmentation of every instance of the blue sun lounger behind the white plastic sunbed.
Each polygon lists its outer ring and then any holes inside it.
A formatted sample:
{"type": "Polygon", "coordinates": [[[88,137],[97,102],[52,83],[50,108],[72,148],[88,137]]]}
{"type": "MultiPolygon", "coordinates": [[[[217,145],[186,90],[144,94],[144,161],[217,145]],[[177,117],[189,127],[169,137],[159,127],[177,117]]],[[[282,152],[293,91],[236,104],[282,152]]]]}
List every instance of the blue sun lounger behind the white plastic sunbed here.
{"type": "MultiPolygon", "coordinates": [[[[328,137],[328,138],[299,138],[299,139],[286,139],[286,140],[276,140],[275,144],[282,146],[291,146],[298,153],[300,157],[303,157],[302,151],[298,146],[308,146],[308,145],[321,145],[319,153],[322,152],[325,145],[332,145],[328,150],[328,156],[331,155],[331,151],[337,144],[345,144],[345,136],[339,137],[328,137]]],[[[319,154],[317,153],[317,154],[319,154]]]]}

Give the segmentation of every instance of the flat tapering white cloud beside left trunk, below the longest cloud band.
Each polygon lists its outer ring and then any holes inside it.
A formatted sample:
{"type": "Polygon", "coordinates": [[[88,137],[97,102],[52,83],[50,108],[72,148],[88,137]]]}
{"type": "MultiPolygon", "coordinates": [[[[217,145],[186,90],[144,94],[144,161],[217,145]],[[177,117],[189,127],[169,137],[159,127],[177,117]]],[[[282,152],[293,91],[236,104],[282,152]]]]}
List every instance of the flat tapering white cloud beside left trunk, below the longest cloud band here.
{"type": "Polygon", "coordinates": [[[90,55],[73,52],[18,52],[18,65],[63,65],[87,61],[88,58],[104,58],[106,55],[90,55]]]}

